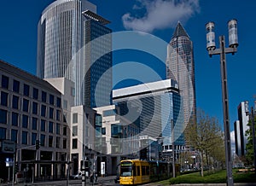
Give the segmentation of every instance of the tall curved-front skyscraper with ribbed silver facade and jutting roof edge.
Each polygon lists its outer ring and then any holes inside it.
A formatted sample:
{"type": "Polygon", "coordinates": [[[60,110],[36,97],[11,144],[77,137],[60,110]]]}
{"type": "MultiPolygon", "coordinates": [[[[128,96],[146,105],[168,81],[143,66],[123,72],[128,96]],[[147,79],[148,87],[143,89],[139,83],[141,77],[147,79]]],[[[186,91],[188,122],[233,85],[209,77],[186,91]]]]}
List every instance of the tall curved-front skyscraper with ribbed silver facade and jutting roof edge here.
{"type": "Polygon", "coordinates": [[[49,4],[38,22],[38,77],[72,80],[75,105],[109,105],[112,44],[111,30],[105,26],[108,23],[96,15],[96,5],[86,0],[56,0],[49,4]],[[106,37],[92,42],[105,34],[106,37]],[[97,87],[99,79],[101,86],[97,87]],[[100,102],[96,102],[95,96],[100,102]]]}

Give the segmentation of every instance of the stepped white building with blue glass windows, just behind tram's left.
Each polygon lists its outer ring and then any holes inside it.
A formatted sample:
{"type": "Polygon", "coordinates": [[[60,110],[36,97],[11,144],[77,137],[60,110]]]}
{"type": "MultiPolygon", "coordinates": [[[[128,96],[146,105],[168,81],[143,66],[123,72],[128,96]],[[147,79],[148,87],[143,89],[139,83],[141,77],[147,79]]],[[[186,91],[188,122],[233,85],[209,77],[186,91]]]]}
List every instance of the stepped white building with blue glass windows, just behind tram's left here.
{"type": "Polygon", "coordinates": [[[138,128],[136,125],[125,125],[117,105],[94,109],[102,116],[101,160],[105,163],[107,174],[114,175],[117,174],[121,159],[138,158],[138,128]]]}

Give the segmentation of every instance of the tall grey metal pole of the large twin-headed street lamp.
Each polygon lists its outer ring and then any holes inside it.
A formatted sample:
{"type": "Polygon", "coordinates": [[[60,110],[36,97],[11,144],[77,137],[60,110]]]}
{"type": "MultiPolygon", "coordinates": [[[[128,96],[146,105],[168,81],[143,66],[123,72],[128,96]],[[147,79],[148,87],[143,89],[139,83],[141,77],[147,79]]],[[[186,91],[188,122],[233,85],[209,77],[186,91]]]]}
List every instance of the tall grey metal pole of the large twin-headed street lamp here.
{"type": "Polygon", "coordinates": [[[220,46],[220,69],[222,83],[222,102],[224,111],[224,143],[225,143],[225,158],[227,171],[227,185],[234,185],[232,177],[232,160],[231,160],[231,141],[230,141],[230,116],[229,116],[229,97],[227,88],[227,71],[226,71],[226,56],[224,36],[219,37],[220,46]]]}

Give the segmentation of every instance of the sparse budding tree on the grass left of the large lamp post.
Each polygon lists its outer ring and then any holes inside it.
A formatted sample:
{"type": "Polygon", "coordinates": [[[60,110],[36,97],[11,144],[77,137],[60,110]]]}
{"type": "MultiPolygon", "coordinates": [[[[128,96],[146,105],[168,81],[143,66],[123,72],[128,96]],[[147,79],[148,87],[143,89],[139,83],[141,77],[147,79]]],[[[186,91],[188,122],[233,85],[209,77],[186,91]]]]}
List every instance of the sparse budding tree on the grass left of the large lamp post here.
{"type": "Polygon", "coordinates": [[[201,154],[201,176],[203,177],[204,168],[212,169],[224,163],[224,133],[216,118],[210,117],[202,110],[198,110],[196,114],[196,124],[187,126],[185,137],[187,144],[201,154]]]}

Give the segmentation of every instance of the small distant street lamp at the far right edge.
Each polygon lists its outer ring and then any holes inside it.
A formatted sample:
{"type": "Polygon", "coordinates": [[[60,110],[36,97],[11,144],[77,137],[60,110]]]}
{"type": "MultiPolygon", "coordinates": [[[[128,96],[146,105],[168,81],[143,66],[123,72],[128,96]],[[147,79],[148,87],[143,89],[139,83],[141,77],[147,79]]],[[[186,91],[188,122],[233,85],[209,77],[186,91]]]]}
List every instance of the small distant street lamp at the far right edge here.
{"type": "Polygon", "coordinates": [[[256,137],[255,137],[255,123],[254,123],[254,113],[256,112],[256,101],[254,101],[254,109],[251,108],[251,113],[249,110],[249,102],[245,102],[245,112],[249,115],[250,120],[252,121],[252,131],[253,131],[253,158],[254,158],[254,171],[256,173],[256,137]]]}

